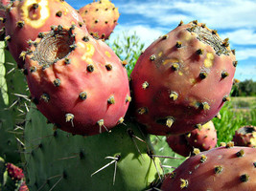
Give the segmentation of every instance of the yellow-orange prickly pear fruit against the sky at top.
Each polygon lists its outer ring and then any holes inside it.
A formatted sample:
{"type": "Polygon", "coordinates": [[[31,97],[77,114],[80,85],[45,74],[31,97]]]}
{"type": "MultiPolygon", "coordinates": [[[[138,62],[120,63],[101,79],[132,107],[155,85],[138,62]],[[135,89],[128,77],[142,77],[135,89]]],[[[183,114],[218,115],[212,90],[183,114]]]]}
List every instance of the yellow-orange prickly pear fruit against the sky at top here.
{"type": "Polygon", "coordinates": [[[109,0],[90,3],[79,12],[88,32],[101,39],[108,39],[120,16],[118,9],[109,0]]]}

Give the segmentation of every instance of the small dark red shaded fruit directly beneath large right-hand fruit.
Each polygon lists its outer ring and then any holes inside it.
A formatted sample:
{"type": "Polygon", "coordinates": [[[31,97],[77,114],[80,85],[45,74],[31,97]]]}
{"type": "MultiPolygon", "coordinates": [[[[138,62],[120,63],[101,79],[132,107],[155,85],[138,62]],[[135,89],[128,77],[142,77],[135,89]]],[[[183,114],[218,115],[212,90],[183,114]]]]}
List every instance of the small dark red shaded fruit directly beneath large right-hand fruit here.
{"type": "Polygon", "coordinates": [[[190,156],[193,147],[188,143],[185,135],[167,136],[166,141],[170,148],[183,157],[190,156]]]}

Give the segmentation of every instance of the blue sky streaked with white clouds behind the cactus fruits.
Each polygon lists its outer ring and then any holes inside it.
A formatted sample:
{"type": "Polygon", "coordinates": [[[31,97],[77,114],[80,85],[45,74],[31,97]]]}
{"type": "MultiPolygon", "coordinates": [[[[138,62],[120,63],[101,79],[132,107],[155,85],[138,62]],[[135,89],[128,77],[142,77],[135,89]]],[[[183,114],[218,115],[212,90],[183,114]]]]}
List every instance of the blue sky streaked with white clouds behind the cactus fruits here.
{"type": "MultiPolygon", "coordinates": [[[[79,10],[92,0],[66,0],[79,10]]],[[[121,16],[110,39],[123,32],[136,34],[147,48],[160,35],[175,29],[180,20],[206,23],[221,38],[229,38],[238,60],[235,78],[256,81],[255,0],[112,0],[121,16]]]]}

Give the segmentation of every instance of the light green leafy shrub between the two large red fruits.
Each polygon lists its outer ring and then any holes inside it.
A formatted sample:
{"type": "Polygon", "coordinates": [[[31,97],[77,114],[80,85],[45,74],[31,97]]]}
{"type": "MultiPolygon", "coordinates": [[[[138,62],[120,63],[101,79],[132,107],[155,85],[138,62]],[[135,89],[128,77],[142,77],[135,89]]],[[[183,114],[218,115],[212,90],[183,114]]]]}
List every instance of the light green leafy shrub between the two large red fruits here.
{"type": "Polygon", "coordinates": [[[123,32],[122,35],[119,35],[114,39],[113,43],[108,44],[120,59],[128,61],[126,67],[129,76],[142,53],[145,44],[140,42],[140,38],[136,32],[133,32],[132,35],[128,35],[128,32],[123,32]]]}

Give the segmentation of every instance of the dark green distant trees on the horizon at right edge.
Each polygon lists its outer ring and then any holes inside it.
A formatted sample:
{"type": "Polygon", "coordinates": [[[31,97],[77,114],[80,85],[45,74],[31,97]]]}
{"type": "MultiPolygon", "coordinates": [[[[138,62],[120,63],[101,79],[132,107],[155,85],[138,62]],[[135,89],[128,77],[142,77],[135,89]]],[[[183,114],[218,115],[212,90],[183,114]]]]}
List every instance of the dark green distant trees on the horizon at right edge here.
{"type": "Polygon", "coordinates": [[[256,96],[256,81],[246,79],[235,84],[231,96],[256,96]]]}

